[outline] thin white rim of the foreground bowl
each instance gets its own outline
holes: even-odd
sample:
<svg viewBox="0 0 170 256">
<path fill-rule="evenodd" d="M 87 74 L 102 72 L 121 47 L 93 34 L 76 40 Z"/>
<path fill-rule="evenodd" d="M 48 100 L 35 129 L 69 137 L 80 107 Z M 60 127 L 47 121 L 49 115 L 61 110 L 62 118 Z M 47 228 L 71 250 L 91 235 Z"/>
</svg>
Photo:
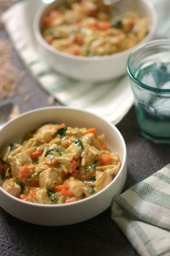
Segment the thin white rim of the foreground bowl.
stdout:
<svg viewBox="0 0 170 256">
<path fill-rule="evenodd" d="M 83 201 L 90 201 L 90 200 L 93 200 L 95 197 L 98 197 L 101 195 L 101 193 L 103 193 L 104 191 L 107 191 L 110 186 L 116 182 L 117 178 L 119 177 L 119 175 L 124 171 L 124 168 L 126 168 L 126 164 L 127 164 L 127 148 L 126 148 L 126 144 L 125 144 L 125 141 L 124 141 L 124 137 L 122 136 L 121 132 L 119 132 L 119 129 L 116 128 L 116 126 L 114 124 L 111 124 L 109 121 L 107 121 L 105 118 L 101 117 L 101 116 L 98 116 L 97 114 L 95 113 L 92 113 L 90 111 L 86 111 L 86 110 L 83 110 L 81 108 L 70 108 L 70 107 L 67 107 L 67 106 L 50 106 L 50 107 L 43 107 L 43 108 L 36 108 L 34 110 L 31 110 L 31 111 L 26 111 L 25 113 L 22 113 L 20 114 L 19 116 L 17 116 L 16 118 L 12 119 L 11 121 L 8 121 L 7 124 L 5 124 L 1 129 L 0 129 L 0 134 L 1 134 L 1 131 L 3 131 L 6 127 L 8 127 L 10 124 L 12 124 L 13 122 L 17 121 L 18 119 L 22 119 L 22 117 L 24 116 L 28 116 L 28 115 L 31 115 L 32 113 L 36 113 L 36 112 L 43 112 L 43 111 L 46 111 L 46 110 L 56 110 L 57 109 L 67 109 L 67 110 L 70 110 L 70 111 L 78 111 L 78 112 L 81 112 L 81 113 L 88 113 L 90 114 L 91 116 L 95 116 L 97 117 L 98 119 L 101 119 L 101 121 L 104 121 L 106 122 L 107 125 L 109 125 L 109 127 L 111 127 L 112 129 L 114 129 L 114 132 L 116 132 L 116 136 L 119 137 L 119 140 L 120 142 L 122 143 L 122 150 L 123 150 L 123 153 L 124 153 L 124 158 L 122 159 L 122 163 L 121 163 L 121 168 L 119 169 L 119 172 L 118 174 L 116 175 L 116 177 L 114 177 L 114 180 L 111 180 L 111 183 L 109 183 L 108 185 L 106 185 L 105 188 L 103 188 L 101 191 L 98 191 L 97 193 L 93 194 L 92 196 L 89 196 L 85 199 L 80 199 L 78 201 L 74 201 L 74 202 L 71 202 L 69 204 L 38 204 L 38 203 L 32 203 L 32 202 L 29 202 L 29 201 L 24 201 L 24 200 L 21 200 L 21 199 L 18 199 L 16 196 L 12 196 L 12 194 L 8 193 L 7 191 L 4 190 L 4 188 L 2 188 L 0 186 L 0 191 L 4 194 L 6 194 L 6 196 L 9 196 L 11 199 L 13 199 L 14 201 L 17 201 L 19 202 L 20 204 L 26 204 L 27 206 L 33 206 L 33 207 L 43 207 L 43 208 L 61 208 L 61 207 L 70 207 L 70 206 L 73 206 L 73 205 L 77 205 L 77 204 L 82 204 Z"/>
</svg>

